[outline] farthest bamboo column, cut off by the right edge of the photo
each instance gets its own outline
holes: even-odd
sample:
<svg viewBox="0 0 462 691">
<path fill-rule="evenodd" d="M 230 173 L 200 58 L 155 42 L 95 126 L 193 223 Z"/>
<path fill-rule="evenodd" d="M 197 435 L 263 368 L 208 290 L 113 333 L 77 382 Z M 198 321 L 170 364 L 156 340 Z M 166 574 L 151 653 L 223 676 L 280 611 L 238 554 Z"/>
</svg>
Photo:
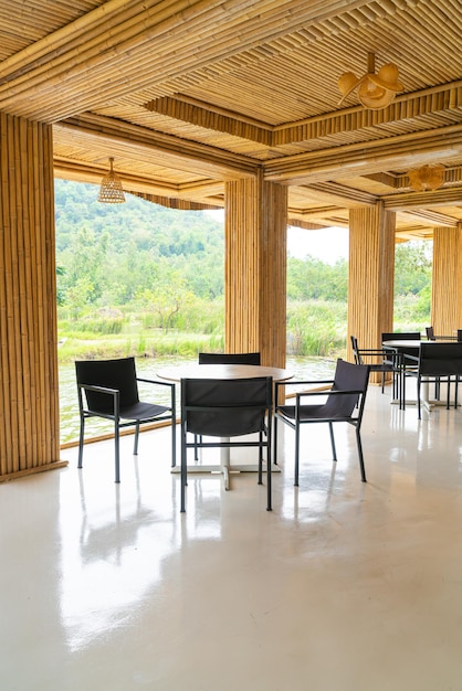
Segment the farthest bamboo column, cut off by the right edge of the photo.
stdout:
<svg viewBox="0 0 462 691">
<path fill-rule="evenodd" d="M 462 223 L 433 228 L 431 322 L 434 332 L 462 329 Z"/>
</svg>

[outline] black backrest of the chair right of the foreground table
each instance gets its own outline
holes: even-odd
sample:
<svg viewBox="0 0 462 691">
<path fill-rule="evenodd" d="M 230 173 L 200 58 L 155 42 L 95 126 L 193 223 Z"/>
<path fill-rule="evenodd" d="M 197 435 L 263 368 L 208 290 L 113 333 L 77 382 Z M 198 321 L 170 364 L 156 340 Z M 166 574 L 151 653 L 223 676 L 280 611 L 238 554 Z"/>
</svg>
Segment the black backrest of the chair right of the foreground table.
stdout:
<svg viewBox="0 0 462 691">
<path fill-rule="evenodd" d="M 345 394 L 344 396 L 333 395 L 327 397 L 326 413 L 350 417 L 353 411 L 358 405 L 359 397 L 366 397 L 369 383 L 369 366 L 367 364 L 353 364 L 346 360 L 337 360 L 332 391 L 360 391 L 360 393 Z M 361 406 L 363 407 L 363 406 Z"/>
</svg>

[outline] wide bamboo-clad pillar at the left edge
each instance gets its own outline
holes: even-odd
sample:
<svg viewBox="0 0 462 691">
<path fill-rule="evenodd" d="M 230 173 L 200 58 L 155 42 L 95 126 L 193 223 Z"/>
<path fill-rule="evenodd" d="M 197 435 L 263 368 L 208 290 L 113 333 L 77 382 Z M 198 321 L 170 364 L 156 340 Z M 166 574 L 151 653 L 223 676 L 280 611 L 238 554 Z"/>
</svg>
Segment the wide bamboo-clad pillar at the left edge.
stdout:
<svg viewBox="0 0 462 691">
<path fill-rule="evenodd" d="M 0 114 L 0 480 L 56 467 L 51 127 Z"/>
</svg>

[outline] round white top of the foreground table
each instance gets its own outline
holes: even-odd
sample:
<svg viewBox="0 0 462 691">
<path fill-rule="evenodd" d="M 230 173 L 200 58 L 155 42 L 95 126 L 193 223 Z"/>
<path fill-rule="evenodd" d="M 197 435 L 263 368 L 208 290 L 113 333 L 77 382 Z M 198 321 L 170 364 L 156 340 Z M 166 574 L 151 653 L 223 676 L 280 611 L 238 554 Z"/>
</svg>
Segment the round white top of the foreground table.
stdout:
<svg viewBox="0 0 462 691">
<path fill-rule="evenodd" d="M 179 382 L 182 379 L 246 379 L 272 376 L 274 382 L 292 379 L 293 373 L 281 368 L 259 364 L 179 364 L 157 372 L 160 379 Z"/>
</svg>

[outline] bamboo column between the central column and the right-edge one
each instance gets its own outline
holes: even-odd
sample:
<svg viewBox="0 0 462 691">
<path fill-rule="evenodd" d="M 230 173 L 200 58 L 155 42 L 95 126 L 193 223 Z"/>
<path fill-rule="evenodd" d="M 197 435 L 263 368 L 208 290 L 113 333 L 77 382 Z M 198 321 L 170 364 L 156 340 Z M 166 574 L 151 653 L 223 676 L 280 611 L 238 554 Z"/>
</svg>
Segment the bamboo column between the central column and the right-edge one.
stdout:
<svg viewBox="0 0 462 691">
<path fill-rule="evenodd" d="M 392 331 L 395 213 L 382 203 L 349 213 L 347 351 L 350 336 L 360 348 L 380 348 L 381 333 Z M 381 374 L 371 374 L 378 381 Z"/>
</svg>

